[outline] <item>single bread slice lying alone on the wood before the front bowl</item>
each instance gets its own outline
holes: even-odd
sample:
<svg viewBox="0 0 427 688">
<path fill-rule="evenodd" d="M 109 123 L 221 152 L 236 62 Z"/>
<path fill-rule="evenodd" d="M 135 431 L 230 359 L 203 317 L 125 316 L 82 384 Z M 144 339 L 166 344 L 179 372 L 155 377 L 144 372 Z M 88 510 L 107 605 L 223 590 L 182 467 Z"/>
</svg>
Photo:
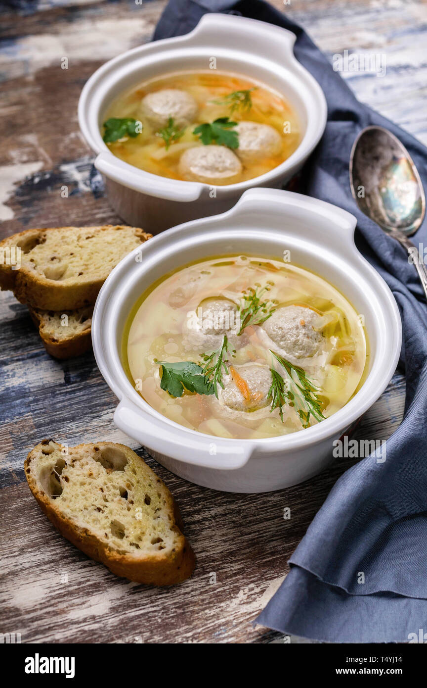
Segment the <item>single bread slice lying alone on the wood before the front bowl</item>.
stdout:
<svg viewBox="0 0 427 688">
<path fill-rule="evenodd" d="M 65 447 L 43 440 L 27 456 L 25 477 L 60 533 L 117 576 L 172 585 L 193 572 L 192 548 L 168 488 L 124 444 Z"/>
</svg>

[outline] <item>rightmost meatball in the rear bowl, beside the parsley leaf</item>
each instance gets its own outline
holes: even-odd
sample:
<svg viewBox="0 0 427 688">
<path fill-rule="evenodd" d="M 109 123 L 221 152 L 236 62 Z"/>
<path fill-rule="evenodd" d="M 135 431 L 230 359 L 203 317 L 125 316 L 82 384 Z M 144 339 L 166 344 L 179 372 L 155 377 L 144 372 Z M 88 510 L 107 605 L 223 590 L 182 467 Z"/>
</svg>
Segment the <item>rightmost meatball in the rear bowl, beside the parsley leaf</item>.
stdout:
<svg viewBox="0 0 427 688">
<path fill-rule="evenodd" d="M 271 155 L 279 155 L 281 138 L 276 129 L 257 122 L 239 122 L 235 131 L 239 136 L 239 147 L 235 151 L 242 162 L 249 164 Z"/>
</svg>

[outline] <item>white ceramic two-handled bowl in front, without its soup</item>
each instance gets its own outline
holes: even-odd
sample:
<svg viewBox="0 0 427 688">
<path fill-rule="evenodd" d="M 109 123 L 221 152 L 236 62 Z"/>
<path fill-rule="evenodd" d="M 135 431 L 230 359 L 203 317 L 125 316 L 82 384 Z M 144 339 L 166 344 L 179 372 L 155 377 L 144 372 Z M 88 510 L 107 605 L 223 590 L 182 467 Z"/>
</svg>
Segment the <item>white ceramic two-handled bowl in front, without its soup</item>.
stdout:
<svg viewBox="0 0 427 688">
<path fill-rule="evenodd" d="M 173 473 L 222 491 L 277 490 L 330 464 L 332 441 L 382 394 L 402 342 L 395 299 L 356 249 L 355 226 L 353 215 L 323 201 L 289 191 L 250 189 L 231 211 L 170 229 L 130 253 L 102 287 L 92 325 L 97 365 L 119 398 L 117 427 Z M 282 257 L 284 250 L 290 250 L 292 263 L 332 283 L 364 316 L 371 355 L 369 374 L 357 394 L 313 427 L 264 440 L 205 435 L 152 409 L 132 387 L 120 360 L 124 325 L 138 297 L 170 270 L 197 259 L 232 253 Z"/>
</svg>

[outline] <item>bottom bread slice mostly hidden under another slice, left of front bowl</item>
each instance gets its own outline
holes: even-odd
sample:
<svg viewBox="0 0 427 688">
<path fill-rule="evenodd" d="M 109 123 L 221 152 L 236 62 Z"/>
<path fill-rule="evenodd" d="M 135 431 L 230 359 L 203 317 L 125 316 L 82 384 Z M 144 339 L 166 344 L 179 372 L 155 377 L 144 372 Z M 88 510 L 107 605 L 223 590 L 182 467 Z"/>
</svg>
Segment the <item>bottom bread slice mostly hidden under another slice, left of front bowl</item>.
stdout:
<svg viewBox="0 0 427 688">
<path fill-rule="evenodd" d="M 28 307 L 45 349 L 55 358 L 74 358 L 92 346 L 93 305 L 64 313 Z"/>
</svg>

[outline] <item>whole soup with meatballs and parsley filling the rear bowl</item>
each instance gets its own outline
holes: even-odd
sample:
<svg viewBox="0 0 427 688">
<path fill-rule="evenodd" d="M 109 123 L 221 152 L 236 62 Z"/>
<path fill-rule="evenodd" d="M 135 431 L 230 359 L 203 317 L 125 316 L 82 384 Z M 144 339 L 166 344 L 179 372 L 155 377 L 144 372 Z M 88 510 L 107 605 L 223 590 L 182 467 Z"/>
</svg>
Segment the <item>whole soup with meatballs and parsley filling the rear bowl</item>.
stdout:
<svg viewBox="0 0 427 688">
<path fill-rule="evenodd" d="M 102 134 L 111 152 L 135 167 L 214 185 L 270 171 L 301 140 L 297 115 L 281 94 L 216 70 L 168 74 L 120 94 Z"/>
</svg>

